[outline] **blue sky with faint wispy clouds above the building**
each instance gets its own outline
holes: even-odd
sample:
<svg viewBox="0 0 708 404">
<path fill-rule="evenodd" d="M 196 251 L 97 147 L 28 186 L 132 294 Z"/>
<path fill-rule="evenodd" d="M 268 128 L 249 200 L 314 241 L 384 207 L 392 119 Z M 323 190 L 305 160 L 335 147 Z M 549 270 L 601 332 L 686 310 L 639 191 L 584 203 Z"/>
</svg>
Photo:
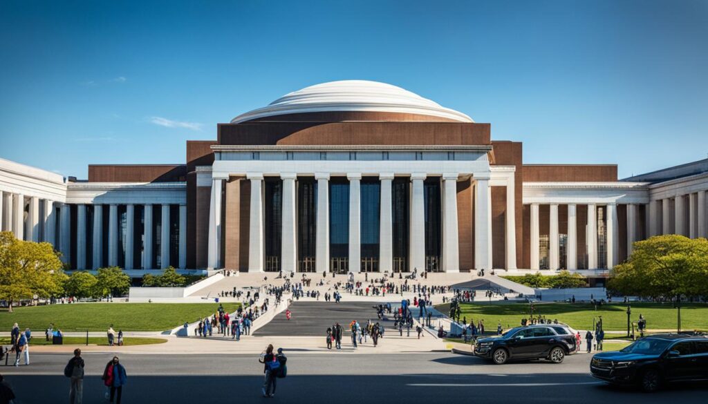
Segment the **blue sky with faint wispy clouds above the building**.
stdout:
<svg viewBox="0 0 708 404">
<path fill-rule="evenodd" d="M 183 163 L 217 122 L 342 79 L 626 177 L 708 156 L 708 1 L 3 0 L 0 157 Z"/>
</svg>

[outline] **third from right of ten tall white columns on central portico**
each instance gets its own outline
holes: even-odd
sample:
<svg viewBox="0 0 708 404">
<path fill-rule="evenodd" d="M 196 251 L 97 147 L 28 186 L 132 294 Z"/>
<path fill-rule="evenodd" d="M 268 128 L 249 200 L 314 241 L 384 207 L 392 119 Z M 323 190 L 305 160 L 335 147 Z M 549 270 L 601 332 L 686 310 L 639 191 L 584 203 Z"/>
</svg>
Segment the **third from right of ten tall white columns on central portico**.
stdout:
<svg viewBox="0 0 708 404">
<path fill-rule="evenodd" d="M 445 272 L 459 272 L 459 231 L 457 227 L 457 173 L 443 173 L 445 197 L 442 207 L 442 265 Z"/>
</svg>

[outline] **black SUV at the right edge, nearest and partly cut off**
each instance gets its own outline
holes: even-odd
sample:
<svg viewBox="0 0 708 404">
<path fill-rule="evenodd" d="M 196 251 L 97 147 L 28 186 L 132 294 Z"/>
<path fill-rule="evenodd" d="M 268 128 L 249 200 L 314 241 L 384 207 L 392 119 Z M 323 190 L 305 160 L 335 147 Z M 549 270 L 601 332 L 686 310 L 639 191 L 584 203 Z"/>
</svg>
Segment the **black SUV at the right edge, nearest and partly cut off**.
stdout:
<svg viewBox="0 0 708 404">
<path fill-rule="evenodd" d="M 658 334 L 621 351 L 601 352 L 590 361 L 593 377 L 614 384 L 637 384 L 656 391 L 662 383 L 708 379 L 708 338 Z"/>
</svg>

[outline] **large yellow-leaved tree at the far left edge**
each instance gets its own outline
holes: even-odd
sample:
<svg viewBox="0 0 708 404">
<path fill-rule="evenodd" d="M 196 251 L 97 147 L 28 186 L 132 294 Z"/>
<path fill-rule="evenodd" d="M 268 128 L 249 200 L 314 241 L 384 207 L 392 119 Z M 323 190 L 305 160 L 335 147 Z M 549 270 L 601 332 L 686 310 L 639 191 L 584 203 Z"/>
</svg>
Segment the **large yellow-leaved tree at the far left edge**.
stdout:
<svg viewBox="0 0 708 404">
<path fill-rule="evenodd" d="M 0 299 L 12 304 L 21 299 L 59 296 L 67 275 L 50 243 L 34 243 L 0 233 Z"/>
</svg>

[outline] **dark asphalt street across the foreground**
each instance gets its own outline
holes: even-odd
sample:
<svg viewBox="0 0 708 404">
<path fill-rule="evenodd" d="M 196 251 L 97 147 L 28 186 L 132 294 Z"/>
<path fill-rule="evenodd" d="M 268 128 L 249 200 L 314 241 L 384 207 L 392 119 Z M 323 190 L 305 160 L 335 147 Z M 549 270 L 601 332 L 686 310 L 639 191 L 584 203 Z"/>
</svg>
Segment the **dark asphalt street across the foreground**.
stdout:
<svg viewBox="0 0 708 404">
<path fill-rule="evenodd" d="M 522 362 L 496 366 L 444 352 L 328 354 L 285 352 L 288 376 L 278 379 L 273 403 L 700 403 L 705 383 L 656 394 L 606 386 L 588 376 L 590 355 L 563 364 Z M 33 354 L 29 367 L 0 367 L 16 404 L 53 403 L 68 395 L 62 369 L 70 355 Z M 84 403 L 105 403 L 101 374 L 110 354 L 84 354 Z M 259 403 L 263 365 L 255 355 L 122 354 L 128 374 L 123 403 Z"/>
</svg>

